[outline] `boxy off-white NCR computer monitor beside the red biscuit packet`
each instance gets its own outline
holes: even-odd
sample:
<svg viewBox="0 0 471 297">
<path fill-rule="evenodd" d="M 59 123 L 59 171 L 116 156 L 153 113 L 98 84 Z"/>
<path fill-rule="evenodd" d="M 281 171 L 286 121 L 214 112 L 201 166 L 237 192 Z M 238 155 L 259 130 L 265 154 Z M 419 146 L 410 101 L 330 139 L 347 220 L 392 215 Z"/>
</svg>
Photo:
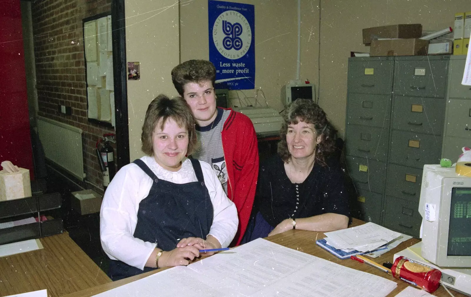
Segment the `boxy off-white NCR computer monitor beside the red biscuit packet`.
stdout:
<svg viewBox="0 0 471 297">
<path fill-rule="evenodd" d="M 471 267 L 471 177 L 424 165 L 419 213 L 422 257 L 440 267 Z"/>
</svg>

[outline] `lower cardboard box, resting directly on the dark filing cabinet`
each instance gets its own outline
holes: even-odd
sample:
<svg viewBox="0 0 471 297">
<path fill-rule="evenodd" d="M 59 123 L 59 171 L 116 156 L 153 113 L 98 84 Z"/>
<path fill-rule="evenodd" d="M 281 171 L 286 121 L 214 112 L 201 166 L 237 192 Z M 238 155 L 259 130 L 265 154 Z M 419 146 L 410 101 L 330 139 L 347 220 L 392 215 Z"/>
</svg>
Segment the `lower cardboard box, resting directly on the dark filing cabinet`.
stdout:
<svg viewBox="0 0 471 297">
<path fill-rule="evenodd" d="M 418 38 L 372 40 L 370 56 L 425 56 L 428 45 Z"/>
</svg>

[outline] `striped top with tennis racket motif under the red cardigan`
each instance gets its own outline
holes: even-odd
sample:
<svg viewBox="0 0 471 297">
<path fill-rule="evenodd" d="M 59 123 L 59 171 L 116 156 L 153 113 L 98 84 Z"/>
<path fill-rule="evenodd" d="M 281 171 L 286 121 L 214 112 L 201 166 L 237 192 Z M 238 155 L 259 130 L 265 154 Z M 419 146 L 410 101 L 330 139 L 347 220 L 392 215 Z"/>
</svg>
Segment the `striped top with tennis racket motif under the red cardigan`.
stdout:
<svg viewBox="0 0 471 297">
<path fill-rule="evenodd" d="M 219 182 L 227 195 L 227 168 L 224 160 L 224 150 L 222 148 L 221 132 L 224 128 L 230 110 L 218 108 L 216 119 L 209 125 L 199 127 L 196 125 L 196 137 L 198 148 L 191 154 L 191 158 L 204 161 L 211 165 L 211 169 L 216 173 Z"/>
</svg>

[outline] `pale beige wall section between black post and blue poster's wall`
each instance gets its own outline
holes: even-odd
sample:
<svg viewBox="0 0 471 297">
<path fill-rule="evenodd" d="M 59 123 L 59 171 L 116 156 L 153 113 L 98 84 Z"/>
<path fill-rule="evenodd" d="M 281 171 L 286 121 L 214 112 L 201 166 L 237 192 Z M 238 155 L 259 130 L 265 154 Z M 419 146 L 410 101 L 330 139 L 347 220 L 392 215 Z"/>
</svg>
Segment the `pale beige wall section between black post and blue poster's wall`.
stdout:
<svg viewBox="0 0 471 297">
<path fill-rule="evenodd" d="M 130 161 L 143 156 L 140 136 L 148 104 L 160 93 L 174 92 L 170 72 L 179 64 L 179 7 L 175 3 L 125 3 L 126 59 L 140 62 L 141 72 L 140 80 L 128 81 Z"/>
</svg>

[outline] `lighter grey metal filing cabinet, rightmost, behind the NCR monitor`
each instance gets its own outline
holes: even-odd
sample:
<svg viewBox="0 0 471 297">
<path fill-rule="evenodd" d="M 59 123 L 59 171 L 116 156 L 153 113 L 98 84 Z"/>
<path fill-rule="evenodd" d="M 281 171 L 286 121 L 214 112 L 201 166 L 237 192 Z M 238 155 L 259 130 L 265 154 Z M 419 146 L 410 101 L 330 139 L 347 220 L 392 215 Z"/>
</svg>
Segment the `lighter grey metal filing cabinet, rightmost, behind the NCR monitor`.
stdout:
<svg viewBox="0 0 471 297">
<path fill-rule="evenodd" d="M 461 84 L 466 56 L 451 56 L 442 158 L 458 160 L 463 146 L 471 147 L 471 86 Z"/>
</svg>

